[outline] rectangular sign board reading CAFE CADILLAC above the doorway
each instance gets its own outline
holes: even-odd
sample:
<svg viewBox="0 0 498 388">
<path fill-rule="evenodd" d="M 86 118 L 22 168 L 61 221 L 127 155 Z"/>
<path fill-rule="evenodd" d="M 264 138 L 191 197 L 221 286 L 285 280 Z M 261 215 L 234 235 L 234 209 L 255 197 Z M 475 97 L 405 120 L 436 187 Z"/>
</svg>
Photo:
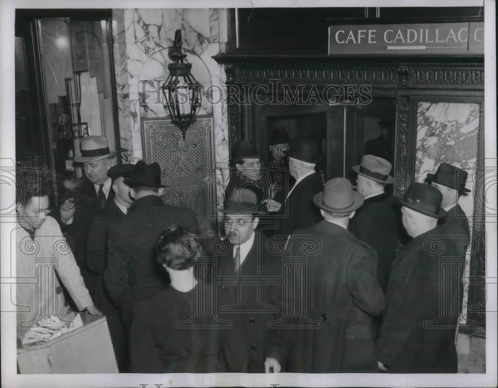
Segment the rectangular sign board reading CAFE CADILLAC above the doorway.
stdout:
<svg viewBox="0 0 498 388">
<path fill-rule="evenodd" d="M 484 54 L 484 22 L 329 26 L 329 55 Z"/>
</svg>

